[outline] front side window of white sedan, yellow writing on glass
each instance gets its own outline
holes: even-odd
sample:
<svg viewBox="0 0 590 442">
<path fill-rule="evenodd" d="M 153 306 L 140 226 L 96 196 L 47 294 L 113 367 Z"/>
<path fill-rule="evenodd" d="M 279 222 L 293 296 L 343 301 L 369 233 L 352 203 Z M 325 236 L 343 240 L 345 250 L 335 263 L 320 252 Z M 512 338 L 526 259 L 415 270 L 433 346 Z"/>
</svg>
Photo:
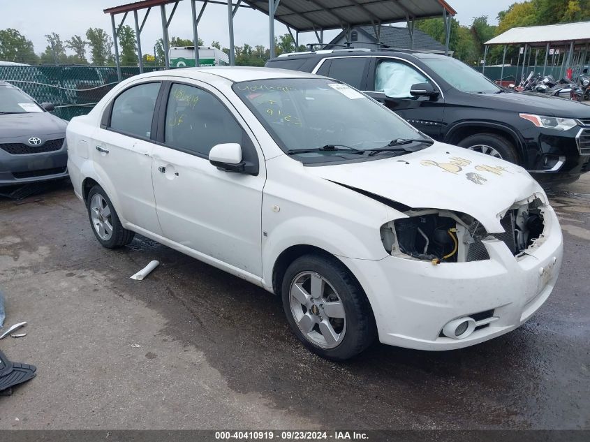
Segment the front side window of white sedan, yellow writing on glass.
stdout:
<svg viewBox="0 0 590 442">
<path fill-rule="evenodd" d="M 165 115 L 166 145 L 208 156 L 214 145 L 242 142 L 242 128 L 215 96 L 198 87 L 172 84 Z"/>
</svg>

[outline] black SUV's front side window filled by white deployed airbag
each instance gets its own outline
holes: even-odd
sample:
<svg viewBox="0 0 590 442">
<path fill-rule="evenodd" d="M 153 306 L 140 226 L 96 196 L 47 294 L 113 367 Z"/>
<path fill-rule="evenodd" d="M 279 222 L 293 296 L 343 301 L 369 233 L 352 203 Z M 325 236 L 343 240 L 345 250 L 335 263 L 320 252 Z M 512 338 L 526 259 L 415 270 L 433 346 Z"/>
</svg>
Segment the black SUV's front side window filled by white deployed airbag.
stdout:
<svg viewBox="0 0 590 442">
<path fill-rule="evenodd" d="M 392 98 L 416 98 L 410 95 L 412 84 L 429 83 L 422 73 L 401 61 L 379 62 L 375 74 L 375 91 Z"/>
</svg>

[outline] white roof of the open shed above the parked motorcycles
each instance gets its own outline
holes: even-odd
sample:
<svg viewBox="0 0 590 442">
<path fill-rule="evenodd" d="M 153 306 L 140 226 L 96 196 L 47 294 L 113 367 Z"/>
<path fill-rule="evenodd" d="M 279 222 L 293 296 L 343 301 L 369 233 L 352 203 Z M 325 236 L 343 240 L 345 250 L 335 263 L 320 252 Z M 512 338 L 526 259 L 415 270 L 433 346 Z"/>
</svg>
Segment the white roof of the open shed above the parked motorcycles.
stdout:
<svg viewBox="0 0 590 442">
<path fill-rule="evenodd" d="M 547 24 L 508 29 L 485 42 L 485 45 L 513 45 L 527 43 L 544 45 L 552 42 L 590 41 L 590 22 Z"/>
</svg>

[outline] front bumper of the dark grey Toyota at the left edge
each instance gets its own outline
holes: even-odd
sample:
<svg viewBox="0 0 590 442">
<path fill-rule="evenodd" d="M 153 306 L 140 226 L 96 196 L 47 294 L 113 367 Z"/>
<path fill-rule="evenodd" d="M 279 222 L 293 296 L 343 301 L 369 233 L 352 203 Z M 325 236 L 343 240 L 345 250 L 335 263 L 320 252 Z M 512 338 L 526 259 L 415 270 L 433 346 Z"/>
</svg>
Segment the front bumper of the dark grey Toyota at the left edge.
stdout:
<svg viewBox="0 0 590 442">
<path fill-rule="evenodd" d="M 65 138 L 65 135 L 57 135 L 45 142 L 61 138 Z M 31 154 L 9 154 L 0 146 L 0 186 L 14 186 L 67 177 L 67 163 L 68 150 L 65 141 L 61 148 L 52 152 Z"/>
</svg>

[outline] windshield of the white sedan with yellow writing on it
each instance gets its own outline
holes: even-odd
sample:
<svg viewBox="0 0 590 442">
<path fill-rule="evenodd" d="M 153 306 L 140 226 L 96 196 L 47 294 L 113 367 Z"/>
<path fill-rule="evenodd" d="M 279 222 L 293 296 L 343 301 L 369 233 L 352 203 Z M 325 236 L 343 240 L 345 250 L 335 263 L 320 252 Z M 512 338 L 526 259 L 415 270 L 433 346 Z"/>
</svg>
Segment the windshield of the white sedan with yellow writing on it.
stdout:
<svg viewBox="0 0 590 442">
<path fill-rule="evenodd" d="M 429 140 L 387 108 L 335 80 L 256 80 L 236 83 L 233 89 L 281 149 L 300 161 L 353 159 L 360 156 L 358 151 L 368 157 L 365 150 L 392 140 Z M 313 149 L 318 150 L 309 152 Z"/>
</svg>

